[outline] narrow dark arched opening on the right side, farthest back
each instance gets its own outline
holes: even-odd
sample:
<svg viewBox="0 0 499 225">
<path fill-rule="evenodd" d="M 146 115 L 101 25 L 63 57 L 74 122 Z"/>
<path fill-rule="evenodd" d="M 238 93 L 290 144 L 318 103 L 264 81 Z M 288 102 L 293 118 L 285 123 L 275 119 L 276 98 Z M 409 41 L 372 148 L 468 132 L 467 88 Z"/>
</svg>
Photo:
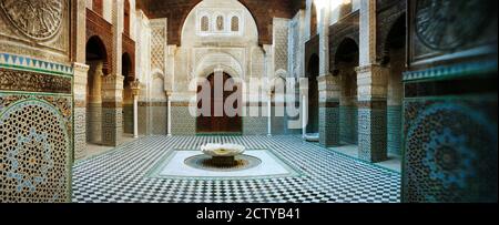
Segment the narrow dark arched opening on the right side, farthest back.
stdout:
<svg viewBox="0 0 499 225">
<path fill-rule="evenodd" d="M 307 133 L 318 133 L 318 114 L 319 114 L 319 93 L 317 78 L 319 73 L 319 58 L 317 54 L 313 54 L 308 60 L 308 123 Z"/>
</svg>

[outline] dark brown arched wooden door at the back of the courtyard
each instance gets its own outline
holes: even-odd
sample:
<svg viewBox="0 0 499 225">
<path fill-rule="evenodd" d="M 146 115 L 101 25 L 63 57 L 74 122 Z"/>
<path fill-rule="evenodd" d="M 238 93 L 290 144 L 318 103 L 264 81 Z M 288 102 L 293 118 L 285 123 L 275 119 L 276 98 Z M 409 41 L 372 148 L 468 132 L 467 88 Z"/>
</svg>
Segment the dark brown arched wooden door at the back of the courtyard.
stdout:
<svg viewBox="0 0 499 225">
<path fill-rule="evenodd" d="M 227 91 L 227 89 L 224 89 L 227 86 L 233 86 L 233 90 Z M 201 112 L 204 110 L 203 114 L 196 119 L 196 132 L 198 134 L 242 133 L 243 123 L 240 116 L 242 111 L 242 89 L 231 75 L 225 72 L 210 74 L 197 88 L 197 109 Z M 225 105 L 231 102 L 233 105 Z M 226 106 L 236 109 L 237 113 L 234 113 L 235 115 L 227 114 L 224 110 Z M 204 114 L 205 112 L 208 112 L 208 115 Z"/>
</svg>

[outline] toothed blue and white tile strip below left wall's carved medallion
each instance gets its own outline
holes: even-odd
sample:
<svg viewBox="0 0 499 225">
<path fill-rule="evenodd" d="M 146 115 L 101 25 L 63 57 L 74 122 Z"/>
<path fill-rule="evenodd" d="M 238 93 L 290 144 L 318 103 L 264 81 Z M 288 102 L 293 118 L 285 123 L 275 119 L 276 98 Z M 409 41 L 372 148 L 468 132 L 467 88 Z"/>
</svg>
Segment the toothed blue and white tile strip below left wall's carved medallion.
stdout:
<svg viewBox="0 0 499 225">
<path fill-rule="evenodd" d="M 73 67 L 9 53 L 0 53 L 0 68 L 73 76 Z"/>
</svg>

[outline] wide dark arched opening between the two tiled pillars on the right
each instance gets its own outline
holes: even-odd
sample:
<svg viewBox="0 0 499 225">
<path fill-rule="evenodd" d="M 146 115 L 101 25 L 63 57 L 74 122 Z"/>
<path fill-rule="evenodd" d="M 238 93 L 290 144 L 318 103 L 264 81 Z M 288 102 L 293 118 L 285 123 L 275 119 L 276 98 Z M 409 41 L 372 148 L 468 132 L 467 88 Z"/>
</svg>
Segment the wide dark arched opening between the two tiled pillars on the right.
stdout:
<svg viewBox="0 0 499 225">
<path fill-rule="evenodd" d="M 343 144 L 358 144 L 357 43 L 349 38 L 340 42 L 335 54 L 335 75 L 339 75 L 339 136 Z"/>
</svg>

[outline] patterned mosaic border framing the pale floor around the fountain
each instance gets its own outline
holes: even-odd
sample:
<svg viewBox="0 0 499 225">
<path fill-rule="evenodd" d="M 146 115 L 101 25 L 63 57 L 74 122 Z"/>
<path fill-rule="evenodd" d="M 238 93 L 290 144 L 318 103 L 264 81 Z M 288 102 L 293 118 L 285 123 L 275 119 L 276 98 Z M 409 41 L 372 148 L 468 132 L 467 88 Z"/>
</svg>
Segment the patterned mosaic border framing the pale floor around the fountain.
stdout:
<svg viewBox="0 0 499 225">
<path fill-rule="evenodd" d="M 261 175 L 261 176 L 174 176 L 174 175 L 161 175 L 161 171 L 163 167 L 167 165 L 167 163 L 175 156 L 177 152 L 185 151 L 195 151 L 195 150 L 182 150 L 182 149 L 173 149 L 169 151 L 165 155 L 161 157 L 161 160 L 146 172 L 145 177 L 150 178 L 167 178 L 167 180 L 180 180 L 180 181 L 231 181 L 231 180 L 272 180 L 272 178 L 282 178 L 282 177 L 301 177 L 305 176 L 296 166 L 291 165 L 286 160 L 275 154 L 269 149 L 261 149 L 261 150 L 249 150 L 249 151 L 266 151 L 267 154 L 273 157 L 279 165 L 286 168 L 289 174 L 283 175 Z"/>
</svg>

